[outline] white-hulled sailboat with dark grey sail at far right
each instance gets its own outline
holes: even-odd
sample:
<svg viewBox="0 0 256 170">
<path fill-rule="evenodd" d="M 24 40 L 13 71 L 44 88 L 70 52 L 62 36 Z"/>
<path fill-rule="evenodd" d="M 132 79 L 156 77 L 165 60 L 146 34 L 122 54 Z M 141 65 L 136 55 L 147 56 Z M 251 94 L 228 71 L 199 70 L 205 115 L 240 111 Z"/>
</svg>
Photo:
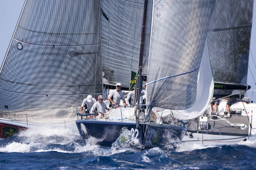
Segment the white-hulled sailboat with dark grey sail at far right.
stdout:
<svg viewBox="0 0 256 170">
<path fill-rule="evenodd" d="M 252 95 L 247 94 L 250 88 L 247 72 L 252 18 L 253 0 L 216 1 L 207 42 L 214 78 L 213 97 L 220 99 L 219 105 L 216 114 L 211 114 L 208 109 L 191 119 L 189 129 L 192 132 L 182 141 L 225 145 L 256 139 L 253 118 L 256 116 L 256 104 Z M 230 118 L 224 117 L 227 114 L 227 97 L 237 99 L 230 106 Z"/>
</svg>

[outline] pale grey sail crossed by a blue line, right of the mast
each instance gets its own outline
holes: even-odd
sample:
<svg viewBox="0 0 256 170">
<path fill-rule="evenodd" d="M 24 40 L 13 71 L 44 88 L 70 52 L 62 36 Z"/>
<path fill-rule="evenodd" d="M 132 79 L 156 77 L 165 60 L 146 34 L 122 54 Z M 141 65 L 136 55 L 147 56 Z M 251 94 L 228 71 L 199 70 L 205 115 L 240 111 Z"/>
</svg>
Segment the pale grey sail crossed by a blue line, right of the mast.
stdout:
<svg viewBox="0 0 256 170">
<path fill-rule="evenodd" d="M 197 75 L 214 0 L 155 0 L 147 104 L 187 109 L 196 100 Z"/>
</svg>

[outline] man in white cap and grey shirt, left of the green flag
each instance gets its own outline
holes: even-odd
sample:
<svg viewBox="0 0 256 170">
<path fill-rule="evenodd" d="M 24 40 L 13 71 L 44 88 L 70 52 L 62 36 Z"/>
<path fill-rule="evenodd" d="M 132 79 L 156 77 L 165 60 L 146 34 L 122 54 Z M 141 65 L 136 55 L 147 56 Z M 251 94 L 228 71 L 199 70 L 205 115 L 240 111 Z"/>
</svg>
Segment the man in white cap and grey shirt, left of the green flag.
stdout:
<svg viewBox="0 0 256 170">
<path fill-rule="evenodd" d="M 124 106 L 126 106 L 125 95 L 121 90 L 121 83 L 116 83 L 116 89 L 112 90 L 107 96 L 107 100 L 112 103 L 112 108 L 120 104 L 120 100 L 123 100 Z"/>
</svg>

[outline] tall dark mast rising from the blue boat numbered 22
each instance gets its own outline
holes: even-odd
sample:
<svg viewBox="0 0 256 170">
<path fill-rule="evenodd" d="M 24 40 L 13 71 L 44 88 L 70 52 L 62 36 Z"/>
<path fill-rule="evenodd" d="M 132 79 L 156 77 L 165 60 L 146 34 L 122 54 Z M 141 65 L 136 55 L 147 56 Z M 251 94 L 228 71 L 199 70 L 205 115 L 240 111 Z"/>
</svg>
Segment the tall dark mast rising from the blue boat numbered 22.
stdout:
<svg viewBox="0 0 256 170">
<path fill-rule="evenodd" d="M 138 126 L 138 115 L 140 111 L 140 93 L 142 90 L 142 62 L 143 62 L 143 52 L 144 52 L 144 41 L 145 41 L 145 29 L 146 29 L 146 18 L 147 18 L 147 0 L 144 0 L 144 13 L 142 21 L 142 31 L 140 40 L 140 56 L 138 65 L 138 83 L 137 83 L 137 105 L 136 105 L 136 122 Z"/>
</svg>

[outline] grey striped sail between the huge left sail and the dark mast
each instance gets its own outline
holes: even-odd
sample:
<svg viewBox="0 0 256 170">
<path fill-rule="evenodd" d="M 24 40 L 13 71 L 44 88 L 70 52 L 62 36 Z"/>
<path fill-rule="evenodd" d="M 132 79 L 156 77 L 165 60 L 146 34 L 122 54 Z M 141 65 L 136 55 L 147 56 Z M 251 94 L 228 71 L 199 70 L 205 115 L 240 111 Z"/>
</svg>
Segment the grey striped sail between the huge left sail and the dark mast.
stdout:
<svg viewBox="0 0 256 170">
<path fill-rule="evenodd" d="M 101 47 L 104 80 L 110 85 L 130 86 L 137 72 L 144 0 L 101 1 Z"/>
</svg>

